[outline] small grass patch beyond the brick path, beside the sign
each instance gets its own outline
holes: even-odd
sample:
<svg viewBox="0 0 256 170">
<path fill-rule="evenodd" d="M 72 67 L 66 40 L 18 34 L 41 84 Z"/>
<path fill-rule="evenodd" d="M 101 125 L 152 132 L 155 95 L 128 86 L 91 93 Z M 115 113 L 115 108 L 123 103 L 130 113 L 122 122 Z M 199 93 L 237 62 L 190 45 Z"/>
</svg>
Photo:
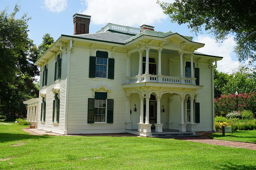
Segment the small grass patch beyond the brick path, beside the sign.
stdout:
<svg viewBox="0 0 256 170">
<path fill-rule="evenodd" d="M 220 140 L 229 140 L 236 142 L 248 142 L 256 144 L 256 130 L 252 131 L 233 131 L 232 133 L 226 133 L 225 136 L 222 136 L 222 133 L 214 133 L 209 135 L 213 139 Z"/>
</svg>

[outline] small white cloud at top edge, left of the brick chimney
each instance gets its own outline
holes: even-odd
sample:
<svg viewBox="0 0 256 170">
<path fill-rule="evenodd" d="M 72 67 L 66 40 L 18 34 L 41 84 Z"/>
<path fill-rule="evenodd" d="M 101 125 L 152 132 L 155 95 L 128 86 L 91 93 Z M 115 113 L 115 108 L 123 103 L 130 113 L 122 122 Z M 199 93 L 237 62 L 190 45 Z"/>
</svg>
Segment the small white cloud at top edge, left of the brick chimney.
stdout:
<svg viewBox="0 0 256 170">
<path fill-rule="evenodd" d="M 44 9 L 51 12 L 61 12 L 67 8 L 67 0 L 44 0 Z"/>
</svg>

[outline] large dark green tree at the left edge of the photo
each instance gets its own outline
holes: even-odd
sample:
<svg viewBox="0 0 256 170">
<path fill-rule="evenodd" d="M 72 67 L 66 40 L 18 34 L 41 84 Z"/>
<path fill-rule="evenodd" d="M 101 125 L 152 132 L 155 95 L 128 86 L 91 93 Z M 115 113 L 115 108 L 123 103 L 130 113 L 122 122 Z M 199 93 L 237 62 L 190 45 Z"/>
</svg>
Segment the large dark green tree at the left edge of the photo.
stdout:
<svg viewBox="0 0 256 170">
<path fill-rule="evenodd" d="M 33 78 L 39 75 L 33 64 L 38 50 L 28 38 L 30 18 L 26 14 L 15 18 L 20 11 L 17 4 L 10 15 L 7 10 L 0 12 L 0 115 L 14 119 L 26 115 L 23 101 L 38 95 L 38 84 Z"/>
</svg>

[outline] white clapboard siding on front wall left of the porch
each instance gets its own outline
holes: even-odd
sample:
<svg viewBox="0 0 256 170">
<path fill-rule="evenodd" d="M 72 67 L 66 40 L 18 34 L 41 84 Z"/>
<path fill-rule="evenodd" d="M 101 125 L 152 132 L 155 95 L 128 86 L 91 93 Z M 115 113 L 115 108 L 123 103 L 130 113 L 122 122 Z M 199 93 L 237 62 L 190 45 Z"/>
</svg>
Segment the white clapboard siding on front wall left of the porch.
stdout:
<svg viewBox="0 0 256 170">
<path fill-rule="evenodd" d="M 75 48 L 70 56 L 68 89 L 68 133 L 81 130 L 125 129 L 126 95 L 122 84 L 126 83 L 126 53 L 115 53 L 115 79 L 89 78 L 90 50 Z M 110 90 L 109 98 L 114 99 L 113 124 L 88 124 L 88 98 L 92 98 L 92 88 L 106 87 Z M 84 131 L 86 133 L 86 131 Z"/>
</svg>

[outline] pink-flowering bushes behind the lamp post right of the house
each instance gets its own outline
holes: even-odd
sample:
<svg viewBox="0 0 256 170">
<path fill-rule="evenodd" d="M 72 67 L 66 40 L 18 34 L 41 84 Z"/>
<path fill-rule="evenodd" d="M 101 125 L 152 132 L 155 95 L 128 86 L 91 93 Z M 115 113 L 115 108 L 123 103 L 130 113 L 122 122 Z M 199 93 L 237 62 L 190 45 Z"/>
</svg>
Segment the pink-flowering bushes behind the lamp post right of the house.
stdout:
<svg viewBox="0 0 256 170">
<path fill-rule="evenodd" d="M 256 112 L 256 92 L 241 93 L 237 96 L 238 111 L 250 110 Z M 236 95 L 222 95 L 220 98 L 214 99 L 214 107 L 216 114 L 227 114 L 236 110 Z"/>
</svg>

